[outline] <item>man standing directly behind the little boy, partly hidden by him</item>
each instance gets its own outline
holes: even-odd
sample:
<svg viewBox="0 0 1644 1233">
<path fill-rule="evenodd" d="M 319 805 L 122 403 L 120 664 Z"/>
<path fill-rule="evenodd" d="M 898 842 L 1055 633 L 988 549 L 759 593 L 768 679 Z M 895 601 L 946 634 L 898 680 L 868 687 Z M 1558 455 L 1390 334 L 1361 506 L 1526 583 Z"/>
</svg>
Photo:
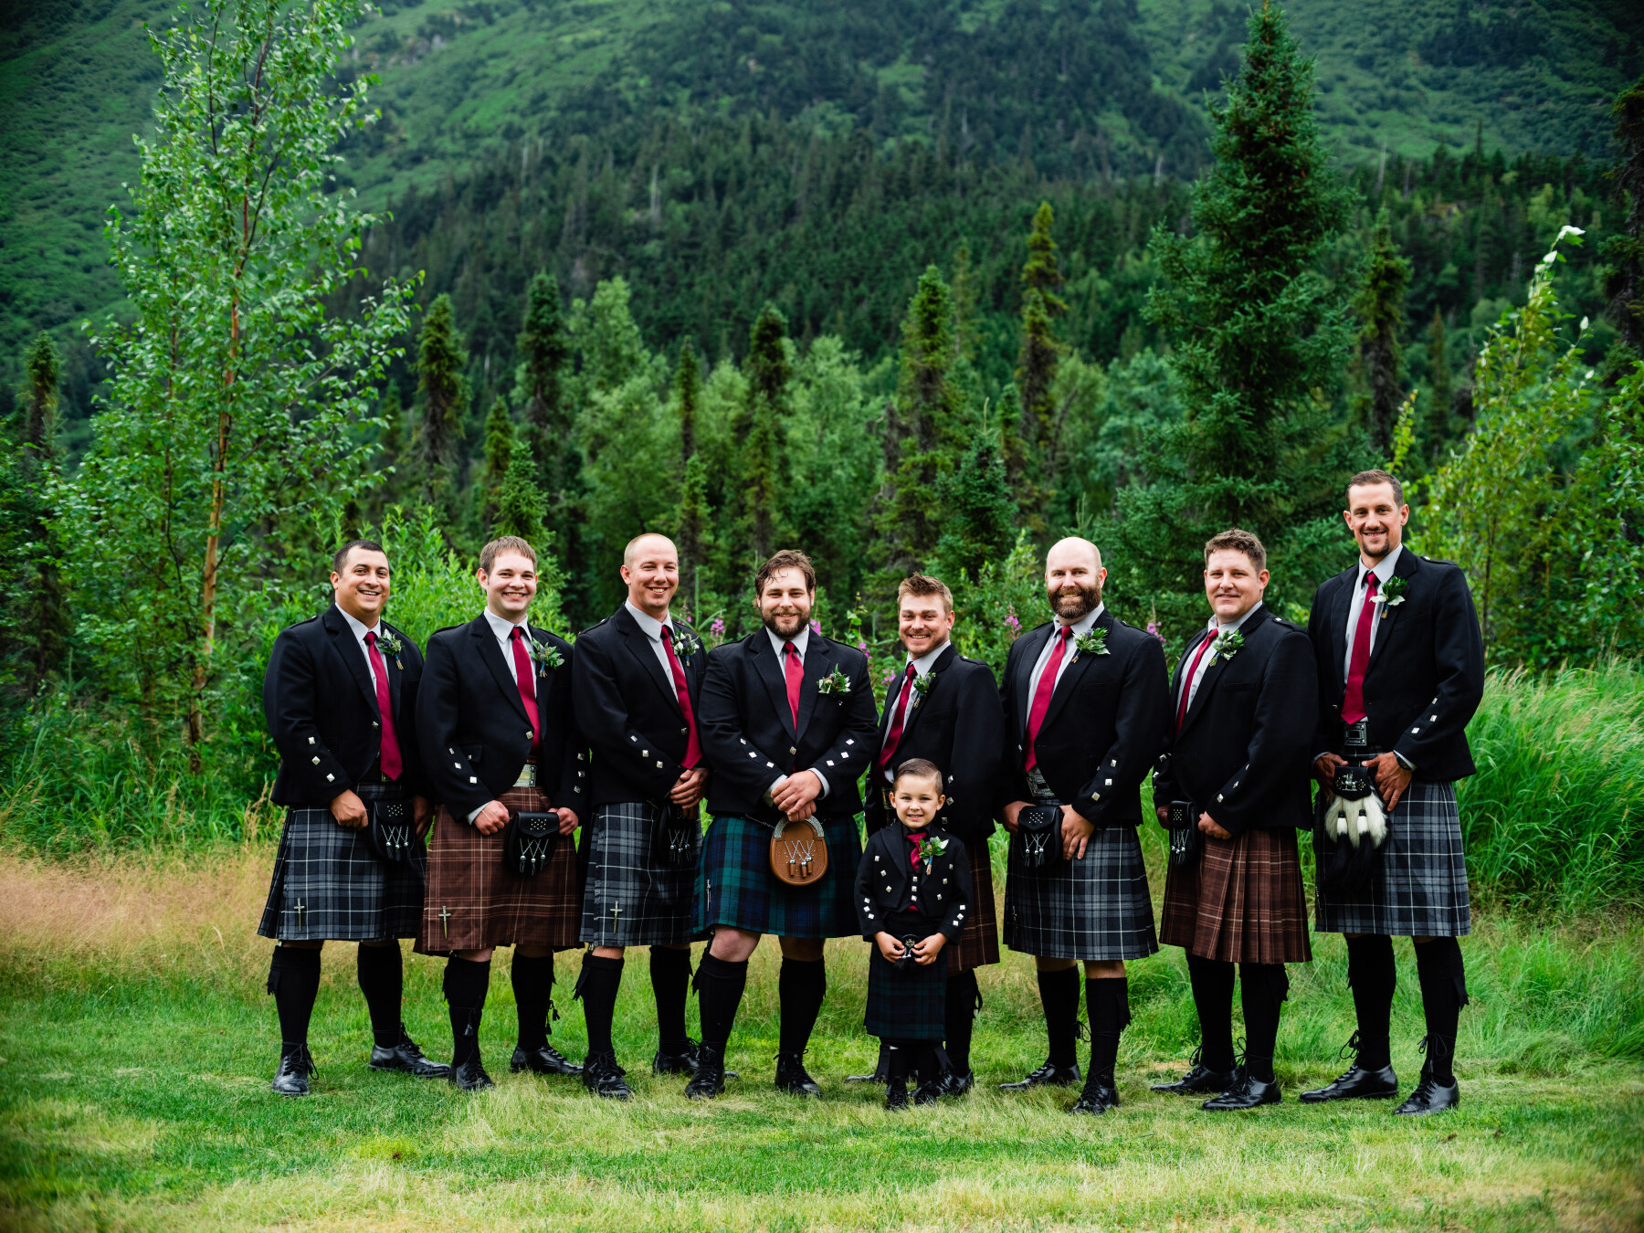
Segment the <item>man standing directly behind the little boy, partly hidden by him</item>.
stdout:
<svg viewBox="0 0 1644 1233">
<path fill-rule="evenodd" d="M 871 835 L 894 825 L 891 787 L 896 768 L 909 758 L 926 758 L 944 768 L 947 804 L 942 829 L 965 843 L 975 893 L 973 911 L 954 945 L 947 947 L 945 1042 L 949 1069 L 945 1093 L 975 1087 L 970 1069 L 970 1034 L 981 1003 L 977 968 L 1000 962 L 1000 927 L 993 904 L 993 794 L 1004 751 L 1004 710 L 993 671 L 967 659 L 949 641 L 954 631 L 954 593 L 940 579 L 911 574 L 896 589 L 896 635 L 907 651 L 903 674 L 884 694 L 880 715 L 878 756 L 868 774 L 866 822 Z M 880 1067 L 857 1080 L 888 1080 L 886 1049 Z M 883 1075 L 883 1078 L 881 1078 Z"/>
</svg>

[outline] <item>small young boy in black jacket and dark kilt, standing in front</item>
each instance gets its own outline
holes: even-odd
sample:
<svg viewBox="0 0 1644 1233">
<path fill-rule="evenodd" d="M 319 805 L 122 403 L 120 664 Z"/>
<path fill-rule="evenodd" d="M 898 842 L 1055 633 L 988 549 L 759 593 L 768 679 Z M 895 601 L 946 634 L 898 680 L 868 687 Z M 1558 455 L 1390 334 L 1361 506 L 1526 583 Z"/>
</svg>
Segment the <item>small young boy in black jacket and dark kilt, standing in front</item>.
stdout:
<svg viewBox="0 0 1644 1233">
<path fill-rule="evenodd" d="M 970 860 L 942 825 L 942 771 L 926 758 L 898 764 L 891 789 L 896 825 L 868 837 L 857 866 L 857 919 L 868 955 L 868 1036 L 886 1049 L 884 1108 L 907 1108 L 909 1064 L 916 1105 L 942 1095 L 937 1046 L 947 1031 L 947 958 L 972 914 Z"/>
</svg>

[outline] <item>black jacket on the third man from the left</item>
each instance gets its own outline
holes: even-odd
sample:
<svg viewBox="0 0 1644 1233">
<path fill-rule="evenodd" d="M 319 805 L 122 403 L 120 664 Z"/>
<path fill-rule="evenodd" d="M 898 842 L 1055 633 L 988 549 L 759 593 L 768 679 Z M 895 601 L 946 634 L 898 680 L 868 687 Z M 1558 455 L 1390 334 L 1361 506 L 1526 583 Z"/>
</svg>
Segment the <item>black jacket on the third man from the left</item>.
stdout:
<svg viewBox="0 0 1644 1233">
<path fill-rule="evenodd" d="M 700 713 L 707 648 L 684 621 L 676 620 L 674 630 L 695 646 L 679 667 L 690 709 Z M 626 605 L 577 635 L 570 681 L 577 728 L 593 760 L 589 804 L 666 802 L 684 769 L 690 733 L 674 682 L 664 676 L 651 640 Z M 702 740 L 700 718 L 697 740 Z"/>
</svg>

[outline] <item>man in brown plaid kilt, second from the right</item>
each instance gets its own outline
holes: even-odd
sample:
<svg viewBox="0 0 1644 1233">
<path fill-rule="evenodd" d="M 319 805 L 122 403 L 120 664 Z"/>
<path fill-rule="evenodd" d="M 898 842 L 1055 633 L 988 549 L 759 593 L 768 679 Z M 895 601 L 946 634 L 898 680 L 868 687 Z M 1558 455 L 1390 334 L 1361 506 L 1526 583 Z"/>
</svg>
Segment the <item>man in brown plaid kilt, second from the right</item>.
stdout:
<svg viewBox="0 0 1644 1233">
<path fill-rule="evenodd" d="M 1175 667 L 1175 737 L 1152 778 L 1159 820 L 1177 804 L 1159 940 L 1187 952 L 1200 1047 L 1185 1078 L 1154 1092 L 1212 1097 L 1203 1108 L 1277 1105 L 1272 1051 L 1286 963 L 1312 962 L 1295 832 L 1312 827 L 1309 766 L 1318 681 L 1307 635 L 1261 597 L 1268 551 L 1249 531 L 1205 544 L 1210 621 Z M 1182 807 L 1185 806 L 1185 809 Z M 1233 1059 L 1233 965 L 1245 1060 Z M 1220 1093 L 1220 1095 L 1218 1095 Z"/>
</svg>

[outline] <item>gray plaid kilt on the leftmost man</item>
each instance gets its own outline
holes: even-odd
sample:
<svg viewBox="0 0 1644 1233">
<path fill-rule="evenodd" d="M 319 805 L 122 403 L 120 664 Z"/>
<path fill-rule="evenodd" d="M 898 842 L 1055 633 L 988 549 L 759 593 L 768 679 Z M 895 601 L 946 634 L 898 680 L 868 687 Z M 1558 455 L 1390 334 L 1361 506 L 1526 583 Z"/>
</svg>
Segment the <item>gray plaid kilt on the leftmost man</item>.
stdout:
<svg viewBox="0 0 1644 1233">
<path fill-rule="evenodd" d="M 355 784 L 353 791 L 367 806 L 403 797 L 398 784 Z M 256 932 L 281 942 L 416 937 L 426 866 L 421 842 L 408 860 L 383 860 L 363 830 L 339 827 L 330 809 L 288 809 Z"/>
</svg>

